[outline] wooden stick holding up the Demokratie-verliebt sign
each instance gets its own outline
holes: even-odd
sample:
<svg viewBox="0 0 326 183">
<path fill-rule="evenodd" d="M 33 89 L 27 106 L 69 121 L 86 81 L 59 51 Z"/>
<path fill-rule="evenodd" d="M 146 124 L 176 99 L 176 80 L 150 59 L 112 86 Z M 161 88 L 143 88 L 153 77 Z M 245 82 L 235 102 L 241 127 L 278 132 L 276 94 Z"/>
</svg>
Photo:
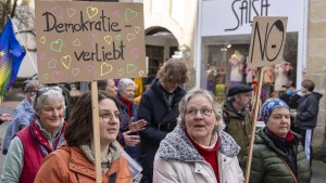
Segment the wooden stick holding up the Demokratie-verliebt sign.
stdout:
<svg viewBox="0 0 326 183">
<path fill-rule="evenodd" d="M 98 83 L 91 81 L 91 108 L 92 108 L 92 136 L 95 143 L 96 181 L 102 183 L 101 151 L 100 151 L 100 126 L 99 126 L 99 102 Z"/>
</svg>

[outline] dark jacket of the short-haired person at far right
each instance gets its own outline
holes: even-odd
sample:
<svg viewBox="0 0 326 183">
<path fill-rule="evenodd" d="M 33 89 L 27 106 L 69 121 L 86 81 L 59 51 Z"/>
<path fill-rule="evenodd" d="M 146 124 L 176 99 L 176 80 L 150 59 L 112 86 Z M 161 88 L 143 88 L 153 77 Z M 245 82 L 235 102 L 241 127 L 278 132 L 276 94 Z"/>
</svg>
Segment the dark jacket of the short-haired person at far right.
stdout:
<svg viewBox="0 0 326 183">
<path fill-rule="evenodd" d="M 317 125 L 321 93 L 312 92 L 298 101 L 299 106 L 294 119 L 296 128 L 313 129 Z"/>
</svg>

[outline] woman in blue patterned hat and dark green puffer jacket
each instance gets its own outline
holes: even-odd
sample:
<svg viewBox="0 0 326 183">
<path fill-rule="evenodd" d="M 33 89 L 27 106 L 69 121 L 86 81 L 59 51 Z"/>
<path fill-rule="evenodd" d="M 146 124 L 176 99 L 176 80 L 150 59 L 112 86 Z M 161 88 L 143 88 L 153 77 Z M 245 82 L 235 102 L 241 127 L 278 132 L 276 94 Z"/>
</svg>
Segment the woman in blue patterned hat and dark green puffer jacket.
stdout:
<svg viewBox="0 0 326 183">
<path fill-rule="evenodd" d="M 254 138 L 250 183 L 310 183 L 311 171 L 301 136 L 290 131 L 290 108 L 279 99 L 268 99 L 262 107 L 265 128 Z M 240 161 L 246 169 L 248 152 Z"/>
</svg>

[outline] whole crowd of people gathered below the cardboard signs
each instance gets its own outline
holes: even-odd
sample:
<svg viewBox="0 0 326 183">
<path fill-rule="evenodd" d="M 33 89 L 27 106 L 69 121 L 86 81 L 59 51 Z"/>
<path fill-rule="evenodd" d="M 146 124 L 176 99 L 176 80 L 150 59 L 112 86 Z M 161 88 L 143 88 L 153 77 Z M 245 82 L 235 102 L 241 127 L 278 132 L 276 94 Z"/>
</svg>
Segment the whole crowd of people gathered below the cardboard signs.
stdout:
<svg viewBox="0 0 326 183">
<path fill-rule="evenodd" d="M 246 171 L 252 183 L 311 181 L 322 97 L 312 80 L 302 81 L 302 96 L 288 86 L 280 99 L 266 100 L 260 115 L 265 127 L 255 134 L 249 109 L 253 88 L 229 88 L 221 105 L 205 89 L 186 91 L 188 80 L 186 64 L 172 58 L 146 79 L 139 97 L 133 79 L 98 81 L 100 149 L 95 149 L 91 92 L 72 107 L 62 88 L 27 83 L 13 115 L 0 115 L 1 123 L 10 121 L 0 182 L 95 182 L 96 151 L 102 181 L 110 183 L 133 182 L 124 152 L 142 167 L 140 183 L 242 183 Z"/>
</svg>

